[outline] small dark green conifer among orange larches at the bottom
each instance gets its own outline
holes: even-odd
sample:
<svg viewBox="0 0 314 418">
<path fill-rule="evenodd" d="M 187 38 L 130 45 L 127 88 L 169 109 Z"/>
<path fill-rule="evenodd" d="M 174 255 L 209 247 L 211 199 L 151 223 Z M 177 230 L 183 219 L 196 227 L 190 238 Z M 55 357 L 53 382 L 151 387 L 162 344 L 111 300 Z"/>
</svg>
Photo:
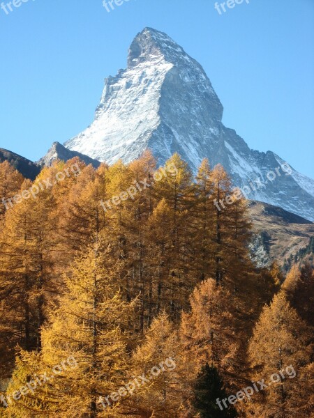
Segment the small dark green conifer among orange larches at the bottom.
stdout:
<svg viewBox="0 0 314 418">
<path fill-rule="evenodd" d="M 228 408 L 225 408 L 223 404 L 221 407 L 218 406 L 217 399 L 221 402 L 227 398 L 227 394 L 223 387 L 223 380 L 215 366 L 209 366 L 208 363 L 202 366 L 193 392 L 192 406 L 200 418 L 235 418 L 238 416 L 232 405 Z"/>
</svg>

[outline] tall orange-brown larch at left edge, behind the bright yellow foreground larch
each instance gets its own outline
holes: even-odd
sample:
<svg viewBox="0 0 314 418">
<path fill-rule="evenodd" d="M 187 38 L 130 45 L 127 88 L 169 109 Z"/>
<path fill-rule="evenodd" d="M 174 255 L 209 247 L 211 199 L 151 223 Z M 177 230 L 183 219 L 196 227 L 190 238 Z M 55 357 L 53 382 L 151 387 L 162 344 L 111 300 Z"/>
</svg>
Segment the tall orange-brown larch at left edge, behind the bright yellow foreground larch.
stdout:
<svg viewBox="0 0 314 418">
<path fill-rule="evenodd" d="M 36 182 L 31 185 L 26 180 L 21 194 L 30 187 L 33 192 L 39 192 Z M 41 190 L 40 196 L 30 192 L 25 196 L 27 199 L 21 198 L 7 211 L 1 233 L 0 300 L 12 313 L 15 323 L 11 328 L 15 337 L 8 346 L 9 352 L 17 342 L 26 350 L 40 350 L 40 327 L 47 317 L 48 305 L 57 297 L 53 274 L 55 202 L 47 189 Z"/>
</svg>

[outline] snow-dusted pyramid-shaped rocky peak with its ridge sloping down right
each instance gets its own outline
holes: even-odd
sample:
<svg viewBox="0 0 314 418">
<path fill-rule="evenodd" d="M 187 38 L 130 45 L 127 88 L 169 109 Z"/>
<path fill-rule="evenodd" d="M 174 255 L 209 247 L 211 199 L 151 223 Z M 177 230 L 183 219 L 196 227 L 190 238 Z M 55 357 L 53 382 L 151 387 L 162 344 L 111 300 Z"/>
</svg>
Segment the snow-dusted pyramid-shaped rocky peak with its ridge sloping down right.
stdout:
<svg viewBox="0 0 314 418">
<path fill-rule="evenodd" d="M 163 164 L 178 152 L 194 172 L 207 157 L 212 167 L 223 164 L 248 199 L 314 220 L 314 180 L 287 164 L 284 171 L 271 151 L 251 150 L 222 117 L 202 66 L 165 33 L 146 28 L 130 45 L 127 68 L 105 80 L 93 123 L 64 145 L 108 164 L 130 162 L 147 148 Z"/>
</svg>

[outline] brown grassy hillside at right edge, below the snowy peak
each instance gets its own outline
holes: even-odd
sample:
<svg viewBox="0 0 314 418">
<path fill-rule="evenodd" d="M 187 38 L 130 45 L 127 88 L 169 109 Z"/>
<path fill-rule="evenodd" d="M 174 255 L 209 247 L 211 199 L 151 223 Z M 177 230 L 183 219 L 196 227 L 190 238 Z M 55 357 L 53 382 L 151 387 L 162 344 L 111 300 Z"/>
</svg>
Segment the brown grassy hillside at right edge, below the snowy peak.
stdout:
<svg viewBox="0 0 314 418">
<path fill-rule="evenodd" d="M 249 212 L 253 219 L 253 237 L 250 250 L 257 267 L 266 267 L 278 261 L 289 270 L 291 261 L 302 256 L 313 256 L 314 224 L 299 215 L 251 201 Z"/>
</svg>

